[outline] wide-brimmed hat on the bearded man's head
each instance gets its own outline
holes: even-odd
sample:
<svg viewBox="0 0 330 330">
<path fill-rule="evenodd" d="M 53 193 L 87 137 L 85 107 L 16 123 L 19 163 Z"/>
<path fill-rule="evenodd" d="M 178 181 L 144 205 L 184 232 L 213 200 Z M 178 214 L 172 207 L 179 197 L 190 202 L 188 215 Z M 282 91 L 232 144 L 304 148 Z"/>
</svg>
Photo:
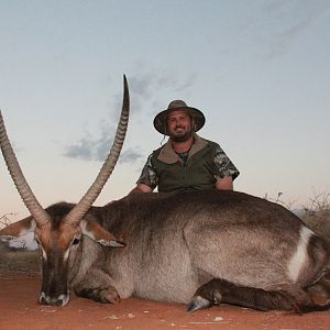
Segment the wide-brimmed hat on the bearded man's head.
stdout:
<svg viewBox="0 0 330 330">
<path fill-rule="evenodd" d="M 205 116 L 202 112 L 196 108 L 188 107 L 183 100 L 174 100 L 172 101 L 166 110 L 161 111 L 154 119 L 155 129 L 164 135 L 168 135 L 167 133 L 167 116 L 169 112 L 175 110 L 186 110 L 195 121 L 194 131 L 199 131 L 205 124 Z"/>
</svg>

